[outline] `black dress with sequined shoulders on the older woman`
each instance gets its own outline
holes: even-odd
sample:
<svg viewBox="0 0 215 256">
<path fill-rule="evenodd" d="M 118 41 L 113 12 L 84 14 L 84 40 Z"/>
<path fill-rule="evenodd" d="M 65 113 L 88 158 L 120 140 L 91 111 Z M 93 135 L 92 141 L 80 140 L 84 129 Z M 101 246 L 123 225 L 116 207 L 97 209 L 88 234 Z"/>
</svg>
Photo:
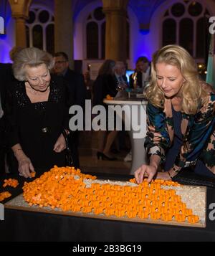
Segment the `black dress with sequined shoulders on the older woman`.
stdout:
<svg viewBox="0 0 215 256">
<path fill-rule="evenodd" d="M 10 146 L 20 143 L 36 170 L 65 166 L 65 151 L 53 151 L 69 123 L 62 79 L 52 78 L 49 98 L 41 103 L 31 103 L 24 82 L 16 82 L 10 87 L 7 105 Z"/>
</svg>

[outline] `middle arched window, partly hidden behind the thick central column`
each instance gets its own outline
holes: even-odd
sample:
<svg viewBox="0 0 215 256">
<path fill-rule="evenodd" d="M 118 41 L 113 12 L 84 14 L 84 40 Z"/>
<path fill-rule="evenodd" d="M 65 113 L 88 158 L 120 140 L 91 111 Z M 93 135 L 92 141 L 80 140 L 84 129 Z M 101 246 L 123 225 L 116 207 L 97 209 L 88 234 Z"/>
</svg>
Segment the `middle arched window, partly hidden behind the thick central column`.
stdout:
<svg viewBox="0 0 215 256">
<path fill-rule="evenodd" d="M 102 7 L 97 7 L 87 16 L 86 23 L 86 58 L 90 60 L 105 59 L 105 14 Z M 130 26 L 127 16 L 127 57 L 129 59 Z"/>
</svg>

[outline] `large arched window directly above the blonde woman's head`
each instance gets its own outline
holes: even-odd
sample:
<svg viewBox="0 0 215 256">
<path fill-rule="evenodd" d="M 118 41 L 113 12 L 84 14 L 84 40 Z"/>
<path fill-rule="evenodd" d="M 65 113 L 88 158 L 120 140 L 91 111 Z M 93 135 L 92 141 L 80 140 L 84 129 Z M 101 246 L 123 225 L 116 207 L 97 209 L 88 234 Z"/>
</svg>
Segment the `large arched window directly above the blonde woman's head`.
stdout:
<svg viewBox="0 0 215 256">
<path fill-rule="evenodd" d="M 209 16 L 203 1 L 178 0 L 163 15 L 162 45 L 180 44 L 203 61 L 208 54 Z"/>
</svg>

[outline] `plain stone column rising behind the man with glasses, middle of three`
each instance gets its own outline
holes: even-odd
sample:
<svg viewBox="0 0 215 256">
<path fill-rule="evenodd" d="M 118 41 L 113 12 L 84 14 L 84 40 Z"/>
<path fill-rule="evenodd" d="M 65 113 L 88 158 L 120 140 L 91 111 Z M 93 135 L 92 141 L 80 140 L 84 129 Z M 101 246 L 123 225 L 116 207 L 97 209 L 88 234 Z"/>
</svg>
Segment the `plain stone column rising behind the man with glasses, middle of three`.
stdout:
<svg viewBox="0 0 215 256">
<path fill-rule="evenodd" d="M 54 51 L 68 54 L 74 66 L 72 0 L 54 0 Z"/>
</svg>

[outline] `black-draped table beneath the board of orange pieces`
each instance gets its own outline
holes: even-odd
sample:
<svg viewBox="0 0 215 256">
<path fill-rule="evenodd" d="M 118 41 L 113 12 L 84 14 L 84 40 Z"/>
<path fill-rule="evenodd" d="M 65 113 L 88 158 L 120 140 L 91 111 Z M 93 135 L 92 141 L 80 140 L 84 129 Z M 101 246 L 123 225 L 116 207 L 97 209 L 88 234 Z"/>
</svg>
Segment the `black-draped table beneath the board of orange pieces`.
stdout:
<svg viewBox="0 0 215 256">
<path fill-rule="evenodd" d="M 130 178 L 105 174 L 97 177 L 127 181 Z M 16 189 L 9 189 L 13 198 L 22 193 L 24 179 L 17 176 L 12 178 L 19 179 L 20 182 Z M 4 203 L 10 199 L 5 200 Z M 215 220 L 209 219 L 210 212 L 215 219 L 215 208 L 214 213 L 213 209 L 209 209 L 209 205 L 213 203 L 215 203 L 215 189 L 208 188 L 206 228 L 121 222 L 5 209 L 4 221 L 0 221 L 0 241 L 215 241 Z"/>
</svg>

